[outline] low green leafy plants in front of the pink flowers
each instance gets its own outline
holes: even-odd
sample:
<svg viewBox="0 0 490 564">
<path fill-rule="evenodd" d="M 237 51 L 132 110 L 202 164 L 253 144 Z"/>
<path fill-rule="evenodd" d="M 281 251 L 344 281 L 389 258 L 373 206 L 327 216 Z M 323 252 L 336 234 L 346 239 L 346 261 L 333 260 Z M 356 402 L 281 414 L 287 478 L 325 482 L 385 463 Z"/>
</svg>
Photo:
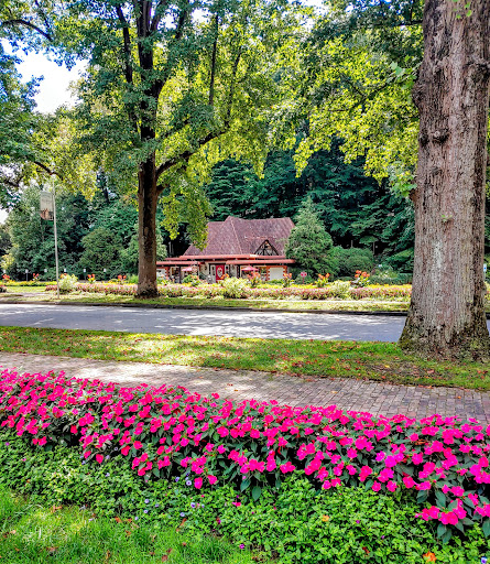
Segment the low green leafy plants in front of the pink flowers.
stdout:
<svg viewBox="0 0 490 564">
<path fill-rule="evenodd" d="M 70 503 L 83 513 L 130 519 L 143 528 L 172 527 L 197 539 L 225 535 L 237 547 L 284 564 L 358 564 L 368 556 L 380 564 L 415 564 L 427 553 L 437 562 L 466 564 L 490 551 L 478 524 L 443 544 L 433 524 L 414 517 L 417 503 L 410 491 L 380 495 L 344 486 L 319 490 L 298 473 L 280 488 L 265 486 L 259 499 L 253 489 L 232 485 L 196 490 L 184 469 L 168 480 L 143 479 L 119 454 L 97 464 L 85 460 L 75 444 L 33 447 L 6 430 L 0 463 L 0 485 L 34 502 Z"/>
</svg>

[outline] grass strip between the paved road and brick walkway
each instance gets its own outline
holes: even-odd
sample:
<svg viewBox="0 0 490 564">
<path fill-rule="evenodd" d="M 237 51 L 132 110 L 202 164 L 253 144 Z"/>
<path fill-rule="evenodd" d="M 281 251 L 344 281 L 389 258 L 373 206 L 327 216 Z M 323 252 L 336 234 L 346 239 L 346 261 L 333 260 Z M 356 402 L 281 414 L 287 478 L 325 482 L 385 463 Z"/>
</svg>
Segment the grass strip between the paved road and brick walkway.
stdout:
<svg viewBox="0 0 490 564">
<path fill-rule="evenodd" d="M 4 327 L 0 350 L 490 390 L 490 364 L 424 360 L 393 343 Z"/>
</svg>

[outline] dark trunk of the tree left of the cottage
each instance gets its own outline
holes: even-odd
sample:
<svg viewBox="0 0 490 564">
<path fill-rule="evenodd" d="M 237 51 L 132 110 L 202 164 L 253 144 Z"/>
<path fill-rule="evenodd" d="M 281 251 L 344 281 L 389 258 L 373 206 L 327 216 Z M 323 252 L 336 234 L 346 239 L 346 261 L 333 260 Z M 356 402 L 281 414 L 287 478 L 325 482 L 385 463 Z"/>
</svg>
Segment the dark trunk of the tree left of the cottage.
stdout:
<svg viewBox="0 0 490 564">
<path fill-rule="evenodd" d="M 156 288 L 156 170 L 155 155 L 140 164 L 138 174 L 139 297 L 155 297 Z"/>
</svg>

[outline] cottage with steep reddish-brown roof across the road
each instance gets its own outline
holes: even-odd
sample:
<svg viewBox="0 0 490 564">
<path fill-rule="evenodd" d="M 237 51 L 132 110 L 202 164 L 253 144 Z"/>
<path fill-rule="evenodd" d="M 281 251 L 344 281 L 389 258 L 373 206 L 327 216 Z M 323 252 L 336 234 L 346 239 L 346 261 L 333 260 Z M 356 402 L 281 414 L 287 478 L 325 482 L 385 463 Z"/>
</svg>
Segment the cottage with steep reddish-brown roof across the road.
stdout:
<svg viewBox="0 0 490 564">
<path fill-rule="evenodd" d="M 280 280 L 294 264 L 286 259 L 284 246 L 294 224 L 288 217 L 241 219 L 228 216 L 225 221 L 209 221 L 205 249 L 194 245 L 181 257 L 159 261 L 159 274 L 183 280 L 194 272 L 216 282 L 226 274 L 240 278 L 260 272 L 263 280 Z"/>
</svg>

